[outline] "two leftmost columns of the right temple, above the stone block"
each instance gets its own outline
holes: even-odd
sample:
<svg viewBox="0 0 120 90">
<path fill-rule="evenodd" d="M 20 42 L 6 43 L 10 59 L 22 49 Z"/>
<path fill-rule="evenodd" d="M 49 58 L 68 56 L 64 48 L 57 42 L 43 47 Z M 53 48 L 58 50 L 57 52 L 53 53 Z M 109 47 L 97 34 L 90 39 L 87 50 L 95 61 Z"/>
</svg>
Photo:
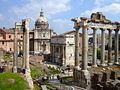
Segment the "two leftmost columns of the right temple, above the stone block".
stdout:
<svg viewBox="0 0 120 90">
<path fill-rule="evenodd" d="M 82 27 L 82 70 L 87 70 L 88 64 L 88 27 Z M 79 28 L 76 28 L 75 35 L 75 68 L 79 69 Z"/>
</svg>

